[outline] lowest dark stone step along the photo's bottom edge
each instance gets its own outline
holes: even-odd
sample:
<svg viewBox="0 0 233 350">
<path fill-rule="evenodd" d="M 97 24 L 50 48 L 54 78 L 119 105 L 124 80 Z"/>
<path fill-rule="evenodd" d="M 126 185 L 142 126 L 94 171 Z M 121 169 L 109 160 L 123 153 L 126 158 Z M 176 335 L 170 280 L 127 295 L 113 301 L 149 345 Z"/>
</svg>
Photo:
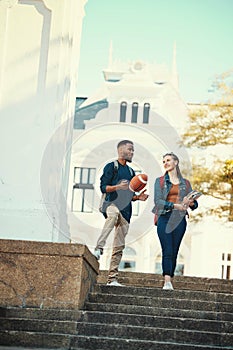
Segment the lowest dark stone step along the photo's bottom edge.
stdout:
<svg viewBox="0 0 233 350">
<path fill-rule="evenodd" d="M 0 331 L 0 350 L 26 349 L 59 349 L 59 350 L 232 350 L 232 346 L 215 346 L 174 341 L 157 341 L 141 339 L 124 339 L 118 337 L 97 336 L 67 336 L 47 333 L 11 332 L 5 334 Z M 9 342 L 10 339 L 10 342 Z M 6 344 L 7 343 L 7 344 Z M 10 349 L 9 349 L 10 348 Z"/>
</svg>

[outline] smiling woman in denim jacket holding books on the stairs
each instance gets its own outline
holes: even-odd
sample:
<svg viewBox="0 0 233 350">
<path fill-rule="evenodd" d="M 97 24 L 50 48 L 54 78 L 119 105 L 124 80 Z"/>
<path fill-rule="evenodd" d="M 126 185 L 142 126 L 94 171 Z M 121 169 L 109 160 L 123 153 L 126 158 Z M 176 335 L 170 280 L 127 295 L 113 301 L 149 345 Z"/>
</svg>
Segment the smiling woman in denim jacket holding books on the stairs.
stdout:
<svg viewBox="0 0 233 350">
<path fill-rule="evenodd" d="M 162 248 L 163 289 L 171 290 L 171 278 L 187 226 L 187 209 L 196 209 L 198 203 L 186 197 L 192 188 L 190 182 L 181 175 L 179 158 L 172 152 L 167 153 L 163 156 L 163 166 L 164 177 L 155 180 L 154 202 L 158 213 L 157 233 Z"/>
</svg>

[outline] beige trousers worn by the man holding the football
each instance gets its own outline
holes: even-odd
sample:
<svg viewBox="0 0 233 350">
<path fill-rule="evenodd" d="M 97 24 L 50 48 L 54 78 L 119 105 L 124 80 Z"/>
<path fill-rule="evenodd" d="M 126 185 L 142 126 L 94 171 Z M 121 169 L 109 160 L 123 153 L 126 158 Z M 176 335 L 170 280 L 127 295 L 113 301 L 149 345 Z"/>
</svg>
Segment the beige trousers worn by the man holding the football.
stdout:
<svg viewBox="0 0 233 350">
<path fill-rule="evenodd" d="M 123 249 L 125 248 L 125 236 L 129 230 L 129 223 L 123 218 L 119 209 L 114 204 L 107 207 L 106 214 L 107 219 L 95 249 L 103 250 L 109 234 L 115 227 L 112 257 L 108 271 L 108 282 L 112 282 L 117 280 L 118 277 L 118 268 L 121 262 Z"/>
</svg>

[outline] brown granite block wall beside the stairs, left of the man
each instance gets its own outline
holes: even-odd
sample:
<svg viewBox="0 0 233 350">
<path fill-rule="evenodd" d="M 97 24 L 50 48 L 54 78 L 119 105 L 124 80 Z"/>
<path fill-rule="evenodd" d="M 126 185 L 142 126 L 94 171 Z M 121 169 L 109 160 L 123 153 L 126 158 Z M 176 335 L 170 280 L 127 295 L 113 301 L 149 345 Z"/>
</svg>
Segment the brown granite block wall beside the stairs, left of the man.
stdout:
<svg viewBox="0 0 233 350">
<path fill-rule="evenodd" d="M 98 271 L 81 244 L 0 240 L 0 305 L 81 308 Z"/>
</svg>

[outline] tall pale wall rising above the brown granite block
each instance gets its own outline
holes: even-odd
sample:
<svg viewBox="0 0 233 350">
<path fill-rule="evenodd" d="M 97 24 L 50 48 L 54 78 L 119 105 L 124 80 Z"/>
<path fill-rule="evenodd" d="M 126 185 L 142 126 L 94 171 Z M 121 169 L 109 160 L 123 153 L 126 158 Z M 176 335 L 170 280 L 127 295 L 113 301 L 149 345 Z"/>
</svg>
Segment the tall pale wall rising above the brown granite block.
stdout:
<svg viewBox="0 0 233 350">
<path fill-rule="evenodd" d="M 0 1 L 1 238 L 69 241 L 66 192 L 85 3 Z"/>
</svg>

